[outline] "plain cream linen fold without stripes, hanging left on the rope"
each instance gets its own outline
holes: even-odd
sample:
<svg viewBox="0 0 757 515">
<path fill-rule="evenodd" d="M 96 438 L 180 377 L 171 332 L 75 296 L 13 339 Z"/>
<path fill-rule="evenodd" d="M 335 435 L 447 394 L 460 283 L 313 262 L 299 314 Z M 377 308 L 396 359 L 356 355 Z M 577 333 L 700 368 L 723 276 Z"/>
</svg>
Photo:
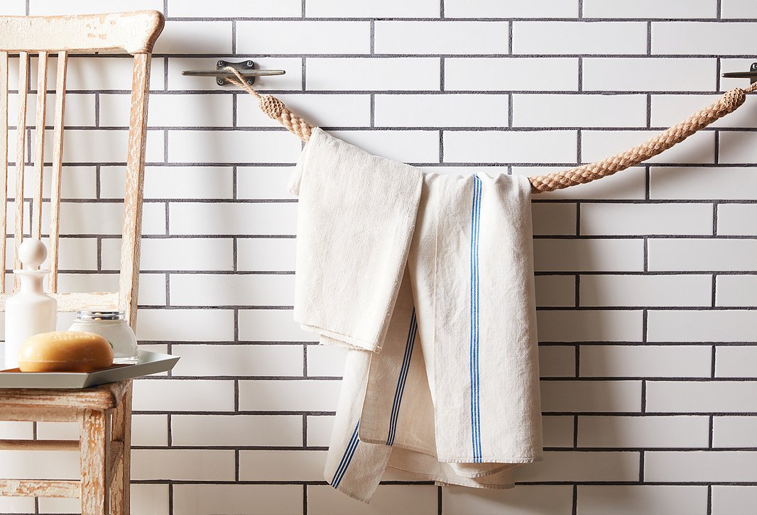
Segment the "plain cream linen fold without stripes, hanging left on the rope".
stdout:
<svg viewBox="0 0 757 515">
<path fill-rule="evenodd" d="M 294 319 L 304 330 L 381 349 L 421 185 L 419 169 L 313 129 L 289 183 L 300 197 Z"/>
</svg>

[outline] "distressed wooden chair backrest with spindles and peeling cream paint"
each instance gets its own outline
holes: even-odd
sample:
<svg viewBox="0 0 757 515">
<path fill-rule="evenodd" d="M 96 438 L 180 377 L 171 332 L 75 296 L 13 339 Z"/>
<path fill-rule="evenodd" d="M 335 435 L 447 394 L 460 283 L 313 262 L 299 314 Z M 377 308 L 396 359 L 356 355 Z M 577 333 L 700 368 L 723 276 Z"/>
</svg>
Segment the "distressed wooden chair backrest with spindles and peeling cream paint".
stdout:
<svg viewBox="0 0 757 515">
<path fill-rule="evenodd" d="M 57 57 L 55 109 L 52 129 L 51 194 L 48 290 L 58 299 L 60 311 L 75 309 L 123 309 L 132 327 L 136 324 L 139 285 L 139 242 L 142 237 L 142 186 L 145 180 L 145 140 L 150 81 L 150 57 L 164 26 L 157 11 L 86 14 L 55 17 L 0 17 L 0 263 L 5 268 L 5 235 L 8 234 L 8 197 L 15 202 L 14 263 L 20 268 L 18 246 L 23 239 L 24 166 L 26 164 L 26 109 L 29 90 L 30 57 L 38 56 L 36 77 L 36 123 L 32 147 L 33 192 L 31 197 L 31 237 L 42 237 L 42 181 L 45 172 L 45 121 L 47 70 L 50 57 Z M 60 229 L 61 166 L 63 163 L 63 118 L 69 54 L 92 52 L 128 53 L 134 56 L 132 97 L 126 149 L 126 191 L 123 206 L 120 280 L 118 292 L 58 293 L 58 234 Z M 16 157 L 8 162 L 8 63 L 18 54 L 18 113 Z M 49 146 L 49 145 L 48 145 Z M 8 191 L 8 165 L 15 170 L 15 191 Z M 17 285 L 16 285 L 17 286 Z M 0 309 L 9 296 L 5 273 L 0 274 Z"/>
</svg>

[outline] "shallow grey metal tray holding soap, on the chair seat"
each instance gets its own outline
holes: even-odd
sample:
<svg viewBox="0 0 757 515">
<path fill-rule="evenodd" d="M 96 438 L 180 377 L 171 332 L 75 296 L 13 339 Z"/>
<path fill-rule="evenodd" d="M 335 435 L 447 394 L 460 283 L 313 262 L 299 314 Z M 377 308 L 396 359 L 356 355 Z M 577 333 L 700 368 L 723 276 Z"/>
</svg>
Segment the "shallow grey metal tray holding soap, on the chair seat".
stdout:
<svg viewBox="0 0 757 515">
<path fill-rule="evenodd" d="M 0 370 L 0 388 L 88 388 L 167 372 L 179 361 L 179 356 L 146 350 L 140 350 L 138 358 L 139 361 L 133 365 L 113 365 L 94 372 L 21 372 L 17 368 Z"/>
</svg>

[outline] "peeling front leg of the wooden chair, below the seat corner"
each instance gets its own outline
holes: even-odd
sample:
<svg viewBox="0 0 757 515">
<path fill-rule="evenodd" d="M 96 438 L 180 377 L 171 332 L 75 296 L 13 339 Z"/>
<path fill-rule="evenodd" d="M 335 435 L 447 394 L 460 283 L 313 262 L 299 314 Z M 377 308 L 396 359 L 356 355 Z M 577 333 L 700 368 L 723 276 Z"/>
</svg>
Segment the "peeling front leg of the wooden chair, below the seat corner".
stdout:
<svg viewBox="0 0 757 515">
<path fill-rule="evenodd" d="M 79 424 L 82 515 L 107 515 L 106 445 L 110 431 L 105 411 L 84 410 Z"/>
</svg>

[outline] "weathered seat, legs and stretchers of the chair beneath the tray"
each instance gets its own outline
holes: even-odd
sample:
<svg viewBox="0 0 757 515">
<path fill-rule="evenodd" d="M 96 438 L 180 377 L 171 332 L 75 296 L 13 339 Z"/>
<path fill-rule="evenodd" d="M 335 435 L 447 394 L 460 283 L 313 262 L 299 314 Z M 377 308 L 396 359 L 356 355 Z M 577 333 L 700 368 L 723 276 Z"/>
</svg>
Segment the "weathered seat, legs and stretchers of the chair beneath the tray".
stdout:
<svg viewBox="0 0 757 515">
<path fill-rule="evenodd" d="M 79 440 L 0 440 L 0 450 L 78 449 L 80 480 L 0 479 L 0 496 L 81 498 L 82 515 L 129 515 L 132 380 L 86 389 L 0 389 L 0 420 L 76 422 Z"/>
</svg>

